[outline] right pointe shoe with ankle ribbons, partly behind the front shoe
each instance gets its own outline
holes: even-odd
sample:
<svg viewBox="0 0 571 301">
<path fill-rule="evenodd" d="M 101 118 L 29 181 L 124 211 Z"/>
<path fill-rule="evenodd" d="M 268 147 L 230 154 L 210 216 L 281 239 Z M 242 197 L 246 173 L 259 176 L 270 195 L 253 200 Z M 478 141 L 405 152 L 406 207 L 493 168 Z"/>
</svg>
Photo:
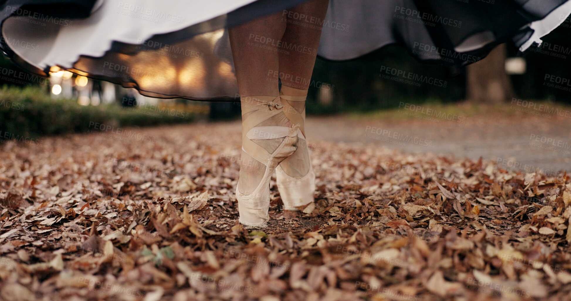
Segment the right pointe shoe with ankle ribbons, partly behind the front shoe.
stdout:
<svg viewBox="0 0 571 301">
<path fill-rule="evenodd" d="M 299 211 L 297 207 L 313 202 L 313 193 L 315 192 L 315 173 L 311 166 L 304 136 L 307 90 L 293 89 L 282 85 L 280 98 L 282 98 L 282 110 L 286 117 L 301 126 L 297 132 L 299 147 L 296 154 L 283 160 L 276 167 L 276 184 L 284 204 L 284 210 Z"/>
</svg>

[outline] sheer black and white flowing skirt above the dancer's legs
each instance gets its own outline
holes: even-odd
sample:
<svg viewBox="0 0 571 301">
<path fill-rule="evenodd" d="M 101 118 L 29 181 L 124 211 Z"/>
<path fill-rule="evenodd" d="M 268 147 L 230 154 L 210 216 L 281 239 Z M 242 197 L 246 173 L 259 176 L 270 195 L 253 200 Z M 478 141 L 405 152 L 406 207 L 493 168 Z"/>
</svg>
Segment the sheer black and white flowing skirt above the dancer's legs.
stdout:
<svg viewBox="0 0 571 301">
<path fill-rule="evenodd" d="M 236 101 L 227 29 L 263 15 L 279 13 L 287 26 L 323 25 L 323 58 L 352 59 L 399 43 L 420 61 L 465 66 L 504 42 L 523 52 L 571 13 L 566 0 L 330 0 L 318 19 L 289 11 L 301 2 L 7 1 L 0 46 L 38 75 L 70 70 L 150 97 Z M 307 51 L 254 33 L 248 46 Z"/>
</svg>

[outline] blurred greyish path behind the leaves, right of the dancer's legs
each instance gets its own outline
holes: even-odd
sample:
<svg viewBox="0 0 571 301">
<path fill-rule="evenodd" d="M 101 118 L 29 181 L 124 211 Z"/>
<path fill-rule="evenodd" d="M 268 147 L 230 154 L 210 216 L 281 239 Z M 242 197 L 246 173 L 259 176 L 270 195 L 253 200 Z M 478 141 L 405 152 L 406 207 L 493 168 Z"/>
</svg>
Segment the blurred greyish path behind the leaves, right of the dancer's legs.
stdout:
<svg viewBox="0 0 571 301">
<path fill-rule="evenodd" d="M 432 152 L 456 158 L 482 156 L 499 161 L 506 169 L 571 171 L 569 118 L 490 114 L 465 121 L 309 117 L 306 129 L 310 141 L 373 143 L 405 152 Z"/>
</svg>

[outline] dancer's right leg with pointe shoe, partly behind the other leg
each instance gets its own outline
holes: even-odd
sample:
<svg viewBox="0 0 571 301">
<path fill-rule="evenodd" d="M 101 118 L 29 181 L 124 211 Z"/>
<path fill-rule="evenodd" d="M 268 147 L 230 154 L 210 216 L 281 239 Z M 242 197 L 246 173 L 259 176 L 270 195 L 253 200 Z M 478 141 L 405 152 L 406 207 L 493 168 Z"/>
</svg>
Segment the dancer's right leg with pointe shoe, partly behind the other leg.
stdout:
<svg viewBox="0 0 571 301">
<path fill-rule="evenodd" d="M 286 117 L 293 124 L 299 124 L 305 135 L 305 98 L 311 83 L 311 74 L 319 39 L 321 26 L 327 13 L 328 0 L 305 2 L 284 11 L 283 18 L 288 18 L 286 32 L 282 38 L 283 45 L 289 53 L 279 55 L 279 75 L 282 81 L 282 104 Z M 300 17 L 307 16 L 307 17 Z M 317 22 L 307 22 L 316 20 Z M 307 23 L 303 26 L 301 23 Z M 288 47 L 293 46 L 294 47 Z M 301 47 L 299 47 L 301 46 Z M 296 51 L 300 49 L 301 51 Z M 313 201 L 315 175 L 311 170 L 311 161 L 307 150 L 307 142 L 300 138 L 297 151 L 283 160 L 278 167 L 278 188 L 286 209 L 293 210 Z M 285 175 L 283 175 L 285 174 Z"/>
</svg>

